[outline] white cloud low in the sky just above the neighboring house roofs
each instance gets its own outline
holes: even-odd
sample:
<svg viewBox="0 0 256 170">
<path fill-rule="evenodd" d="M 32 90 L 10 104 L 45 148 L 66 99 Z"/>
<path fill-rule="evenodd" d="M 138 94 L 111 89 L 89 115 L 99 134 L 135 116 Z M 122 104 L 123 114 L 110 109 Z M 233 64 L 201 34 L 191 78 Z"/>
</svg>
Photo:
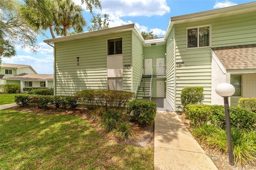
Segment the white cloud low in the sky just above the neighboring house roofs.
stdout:
<svg viewBox="0 0 256 170">
<path fill-rule="evenodd" d="M 29 64 L 37 73 L 53 74 L 53 60 L 48 57 L 41 59 L 30 55 L 17 55 L 11 58 L 2 58 L 2 63 Z"/>
</svg>

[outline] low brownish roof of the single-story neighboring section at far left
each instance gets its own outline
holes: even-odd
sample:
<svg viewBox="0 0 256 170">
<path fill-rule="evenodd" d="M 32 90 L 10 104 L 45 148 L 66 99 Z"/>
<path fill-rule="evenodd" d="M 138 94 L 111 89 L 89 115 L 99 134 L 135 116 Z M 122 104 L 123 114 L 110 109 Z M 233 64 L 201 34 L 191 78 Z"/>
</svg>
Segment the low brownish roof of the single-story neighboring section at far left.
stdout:
<svg viewBox="0 0 256 170">
<path fill-rule="evenodd" d="M 45 81 L 53 80 L 53 74 L 19 74 L 3 80 L 21 80 L 21 81 Z"/>
</svg>

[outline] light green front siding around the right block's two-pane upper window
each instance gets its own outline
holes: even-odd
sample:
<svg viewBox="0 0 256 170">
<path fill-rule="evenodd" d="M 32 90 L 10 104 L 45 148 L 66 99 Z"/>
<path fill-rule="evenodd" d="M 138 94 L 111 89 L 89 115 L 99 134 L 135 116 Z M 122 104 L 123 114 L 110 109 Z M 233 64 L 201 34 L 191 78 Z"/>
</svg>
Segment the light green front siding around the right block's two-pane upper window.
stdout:
<svg viewBox="0 0 256 170">
<path fill-rule="evenodd" d="M 211 25 L 212 47 L 245 45 L 256 43 L 256 13 L 234 15 L 211 20 L 189 22 L 175 27 L 176 102 L 180 104 L 181 90 L 188 86 L 204 87 L 204 104 L 211 104 L 211 52 L 210 47 L 187 49 L 186 29 L 200 25 Z"/>
</svg>

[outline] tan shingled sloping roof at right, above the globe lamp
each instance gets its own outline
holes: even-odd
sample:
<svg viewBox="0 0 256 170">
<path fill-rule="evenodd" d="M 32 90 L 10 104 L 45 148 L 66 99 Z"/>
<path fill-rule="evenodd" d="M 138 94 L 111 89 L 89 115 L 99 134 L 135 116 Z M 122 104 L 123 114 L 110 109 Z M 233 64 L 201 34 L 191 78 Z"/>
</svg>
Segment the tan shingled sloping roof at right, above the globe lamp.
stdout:
<svg viewBox="0 0 256 170">
<path fill-rule="evenodd" d="M 256 44 L 212 48 L 227 70 L 256 69 Z"/>
</svg>

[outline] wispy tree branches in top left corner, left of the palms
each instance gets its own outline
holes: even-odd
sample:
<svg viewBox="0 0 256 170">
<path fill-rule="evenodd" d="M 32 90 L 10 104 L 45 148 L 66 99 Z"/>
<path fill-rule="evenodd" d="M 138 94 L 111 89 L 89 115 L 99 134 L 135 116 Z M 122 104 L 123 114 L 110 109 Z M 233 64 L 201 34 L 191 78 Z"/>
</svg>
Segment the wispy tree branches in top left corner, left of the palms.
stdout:
<svg viewBox="0 0 256 170">
<path fill-rule="evenodd" d="M 16 0 L 0 1 L 0 62 L 16 54 L 16 45 L 35 51 L 37 32 L 21 19 L 20 5 Z"/>
</svg>

